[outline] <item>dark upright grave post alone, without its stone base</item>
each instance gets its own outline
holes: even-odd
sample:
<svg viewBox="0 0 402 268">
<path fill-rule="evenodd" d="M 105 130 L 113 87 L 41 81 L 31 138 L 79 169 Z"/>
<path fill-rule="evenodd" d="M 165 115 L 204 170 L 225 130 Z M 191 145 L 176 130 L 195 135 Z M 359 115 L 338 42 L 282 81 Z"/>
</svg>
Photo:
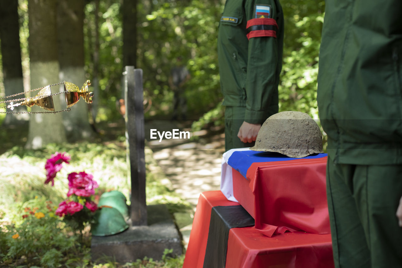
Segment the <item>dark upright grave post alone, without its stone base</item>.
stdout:
<svg viewBox="0 0 402 268">
<path fill-rule="evenodd" d="M 127 154 L 131 171 L 130 218 L 133 226 L 147 225 L 142 69 L 125 66 L 123 74 Z"/>
</svg>

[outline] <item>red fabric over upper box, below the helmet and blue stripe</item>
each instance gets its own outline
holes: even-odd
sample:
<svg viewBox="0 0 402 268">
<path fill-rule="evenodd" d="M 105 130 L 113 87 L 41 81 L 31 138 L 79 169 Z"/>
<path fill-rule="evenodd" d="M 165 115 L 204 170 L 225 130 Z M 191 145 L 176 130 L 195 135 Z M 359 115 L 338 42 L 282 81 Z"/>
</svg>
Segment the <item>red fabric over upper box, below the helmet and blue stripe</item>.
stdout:
<svg viewBox="0 0 402 268">
<path fill-rule="evenodd" d="M 244 178 L 232 170 L 234 197 L 269 237 L 285 231 L 330 233 L 326 200 L 326 160 L 254 163 Z"/>
</svg>

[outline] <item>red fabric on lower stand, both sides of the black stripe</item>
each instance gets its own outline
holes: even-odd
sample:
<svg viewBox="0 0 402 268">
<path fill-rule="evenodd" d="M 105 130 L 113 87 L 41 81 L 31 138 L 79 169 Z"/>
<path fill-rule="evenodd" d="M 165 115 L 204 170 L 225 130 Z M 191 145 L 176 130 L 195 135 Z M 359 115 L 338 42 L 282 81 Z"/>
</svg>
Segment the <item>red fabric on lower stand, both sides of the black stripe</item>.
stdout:
<svg viewBox="0 0 402 268">
<path fill-rule="evenodd" d="M 221 191 L 200 195 L 183 268 L 203 268 L 211 209 L 213 206 L 233 205 L 238 203 L 228 201 Z M 333 266 L 330 234 L 299 231 L 267 237 L 254 227 L 230 229 L 226 268 Z"/>
</svg>

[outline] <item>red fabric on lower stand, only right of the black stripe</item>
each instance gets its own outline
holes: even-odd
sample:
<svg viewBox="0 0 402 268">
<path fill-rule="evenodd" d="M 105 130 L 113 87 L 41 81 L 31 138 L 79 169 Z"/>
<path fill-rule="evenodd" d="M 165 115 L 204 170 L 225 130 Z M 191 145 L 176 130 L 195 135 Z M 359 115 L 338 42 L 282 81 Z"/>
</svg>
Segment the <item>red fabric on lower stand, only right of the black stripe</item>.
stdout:
<svg viewBox="0 0 402 268">
<path fill-rule="evenodd" d="M 226 268 L 332 268 L 331 235 L 304 232 L 266 237 L 253 227 L 230 229 Z"/>
</svg>

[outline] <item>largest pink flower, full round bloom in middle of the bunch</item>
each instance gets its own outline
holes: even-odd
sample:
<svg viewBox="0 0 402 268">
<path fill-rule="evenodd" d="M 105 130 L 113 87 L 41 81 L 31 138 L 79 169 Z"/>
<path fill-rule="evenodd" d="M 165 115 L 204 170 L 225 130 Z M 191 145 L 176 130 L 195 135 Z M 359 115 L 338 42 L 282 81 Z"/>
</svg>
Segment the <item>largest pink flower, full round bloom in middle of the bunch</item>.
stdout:
<svg viewBox="0 0 402 268">
<path fill-rule="evenodd" d="M 98 183 L 93 180 L 91 174 L 85 172 L 68 174 L 68 193 L 67 196 L 75 194 L 76 196 L 91 196 L 95 194 L 95 188 L 98 188 Z"/>
</svg>

